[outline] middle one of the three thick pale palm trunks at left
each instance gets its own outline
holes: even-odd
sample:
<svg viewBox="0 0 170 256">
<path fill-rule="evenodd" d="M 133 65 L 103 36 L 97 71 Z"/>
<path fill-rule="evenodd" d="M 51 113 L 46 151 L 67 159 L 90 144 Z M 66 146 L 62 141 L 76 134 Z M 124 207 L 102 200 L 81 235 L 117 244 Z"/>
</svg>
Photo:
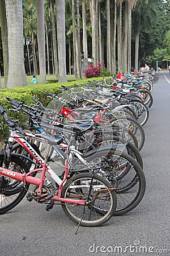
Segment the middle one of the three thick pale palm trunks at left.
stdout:
<svg viewBox="0 0 170 256">
<path fill-rule="evenodd" d="M 45 27 L 44 27 L 44 0 L 36 0 L 37 5 L 37 40 L 39 46 L 39 68 L 41 84 L 45 84 Z"/>
</svg>

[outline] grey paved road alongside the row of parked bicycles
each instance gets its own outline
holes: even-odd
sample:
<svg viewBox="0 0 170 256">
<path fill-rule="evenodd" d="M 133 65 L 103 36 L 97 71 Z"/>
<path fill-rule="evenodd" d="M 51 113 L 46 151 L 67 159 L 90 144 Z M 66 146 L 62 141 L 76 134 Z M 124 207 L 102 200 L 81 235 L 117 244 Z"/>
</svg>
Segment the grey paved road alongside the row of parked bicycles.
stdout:
<svg viewBox="0 0 170 256">
<path fill-rule="evenodd" d="M 146 143 L 141 152 L 147 187 L 138 207 L 125 216 L 113 217 L 99 228 L 80 227 L 75 236 L 76 225 L 63 214 L 60 206 L 46 212 L 44 206 L 33 208 L 33 203 L 23 200 L 1 216 L 0 255 L 170 255 L 164 251 L 169 249 L 168 72 L 160 73 L 152 95 L 154 105 L 144 127 Z"/>
</svg>

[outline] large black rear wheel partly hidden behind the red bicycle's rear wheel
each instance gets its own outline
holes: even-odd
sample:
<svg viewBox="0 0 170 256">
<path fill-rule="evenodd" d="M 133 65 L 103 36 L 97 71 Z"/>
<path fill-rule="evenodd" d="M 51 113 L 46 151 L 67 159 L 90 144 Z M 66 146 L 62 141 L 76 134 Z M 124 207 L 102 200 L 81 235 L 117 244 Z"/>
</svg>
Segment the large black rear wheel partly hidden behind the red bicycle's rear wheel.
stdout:
<svg viewBox="0 0 170 256">
<path fill-rule="evenodd" d="M 89 154 L 89 152 L 88 152 Z M 104 162 L 100 175 L 113 184 L 117 181 L 117 208 L 114 215 L 133 210 L 145 194 L 146 180 L 141 166 L 130 155 L 118 150 L 106 152 L 102 147 L 97 154 L 85 158 L 88 163 Z"/>
</svg>

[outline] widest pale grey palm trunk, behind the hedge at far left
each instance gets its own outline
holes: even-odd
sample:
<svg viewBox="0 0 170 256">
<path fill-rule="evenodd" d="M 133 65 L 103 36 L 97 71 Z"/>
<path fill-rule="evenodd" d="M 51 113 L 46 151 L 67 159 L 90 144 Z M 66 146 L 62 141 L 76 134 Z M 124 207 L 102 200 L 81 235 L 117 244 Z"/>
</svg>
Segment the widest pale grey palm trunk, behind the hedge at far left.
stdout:
<svg viewBox="0 0 170 256">
<path fill-rule="evenodd" d="M 8 79 L 7 87 L 27 85 L 24 67 L 23 9 L 22 0 L 6 1 L 8 30 Z M 16 44 L 17 42 L 17 44 Z"/>
</svg>

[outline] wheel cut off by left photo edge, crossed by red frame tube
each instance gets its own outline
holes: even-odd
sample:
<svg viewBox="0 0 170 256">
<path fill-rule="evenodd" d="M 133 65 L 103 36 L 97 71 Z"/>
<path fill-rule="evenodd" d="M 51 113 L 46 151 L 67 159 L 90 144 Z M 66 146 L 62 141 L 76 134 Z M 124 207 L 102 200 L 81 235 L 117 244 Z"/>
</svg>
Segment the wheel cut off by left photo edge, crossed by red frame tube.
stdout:
<svg viewBox="0 0 170 256">
<path fill-rule="evenodd" d="M 4 154 L 0 154 L 0 166 L 6 168 Z M 0 167 L 0 168 L 1 168 Z M 12 155 L 8 170 L 21 174 L 28 172 L 27 165 L 18 157 Z M 11 210 L 22 201 L 29 184 L 0 175 L 0 214 Z"/>
</svg>

